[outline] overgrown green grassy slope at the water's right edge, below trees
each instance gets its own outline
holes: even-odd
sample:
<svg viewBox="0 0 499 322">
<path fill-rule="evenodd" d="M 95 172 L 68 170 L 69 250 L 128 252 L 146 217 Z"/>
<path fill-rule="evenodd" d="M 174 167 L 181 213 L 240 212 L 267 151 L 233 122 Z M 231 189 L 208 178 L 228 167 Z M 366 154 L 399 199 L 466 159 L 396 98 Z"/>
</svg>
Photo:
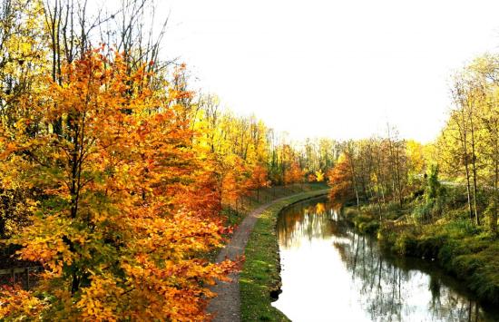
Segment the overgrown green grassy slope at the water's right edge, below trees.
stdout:
<svg viewBox="0 0 499 322">
<path fill-rule="evenodd" d="M 499 239 L 476 227 L 465 211 L 449 210 L 438 220 L 421 223 L 411 215 L 415 210 L 410 205 L 389 210 L 384 220 L 379 220 L 373 206 L 347 208 L 343 213 L 358 231 L 375 234 L 384 249 L 434 261 L 463 281 L 480 301 L 499 305 Z"/>
</svg>

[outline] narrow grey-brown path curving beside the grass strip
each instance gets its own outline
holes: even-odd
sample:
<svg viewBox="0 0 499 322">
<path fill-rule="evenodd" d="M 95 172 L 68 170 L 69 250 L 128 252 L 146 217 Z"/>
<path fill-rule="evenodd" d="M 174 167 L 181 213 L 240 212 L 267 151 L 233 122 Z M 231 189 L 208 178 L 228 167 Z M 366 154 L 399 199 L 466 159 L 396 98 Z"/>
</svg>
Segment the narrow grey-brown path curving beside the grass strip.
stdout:
<svg viewBox="0 0 499 322">
<path fill-rule="evenodd" d="M 303 193 L 303 192 L 302 192 Z M 273 204 L 295 197 L 301 193 L 289 195 L 269 203 L 259 206 L 252 210 L 248 216 L 240 223 L 240 226 L 234 232 L 229 244 L 220 250 L 217 257 L 217 263 L 224 259 L 235 260 L 244 254 L 244 249 L 248 243 L 249 234 L 253 230 L 253 226 L 259 219 L 261 213 L 268 209 Z M 216 298 L 211 299 L 208 306 L 208 312 L 215 314 L 214 321 L 216 322 L 237 322 L 240 321 L 240 275 L 234 273 L 230 275 L 231 282 L 219 282 L 211 290 L 218 294 Z"/>
</svg>

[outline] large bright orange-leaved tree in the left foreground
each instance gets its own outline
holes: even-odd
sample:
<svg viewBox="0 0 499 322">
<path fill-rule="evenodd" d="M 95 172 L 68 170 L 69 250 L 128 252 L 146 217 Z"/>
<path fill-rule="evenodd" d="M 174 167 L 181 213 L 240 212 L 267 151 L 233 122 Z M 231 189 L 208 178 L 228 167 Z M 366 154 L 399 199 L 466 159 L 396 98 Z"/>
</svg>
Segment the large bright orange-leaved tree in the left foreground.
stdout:
<svg viewBox="0 0 499 322">
<path fill-rule="evenodd" d="M 63 85 L 24 98 L 31 117 L 2 129 L 2 188 L 38 191 L 32 224 L 11 242 L 44 266 L 33 291 L 0 292 L 4 317 L 199 320 L 206 285 L 231 268 L 197 257 L 219 245 L 220 227 L 191 201 L 210 174 L 174 103 L 188 93 L 152 92 L 152 74 L 112 56 L 99 49 L 65 65 Z M 24 131 L 34 119 L 36 132 Z"/>
</svg>

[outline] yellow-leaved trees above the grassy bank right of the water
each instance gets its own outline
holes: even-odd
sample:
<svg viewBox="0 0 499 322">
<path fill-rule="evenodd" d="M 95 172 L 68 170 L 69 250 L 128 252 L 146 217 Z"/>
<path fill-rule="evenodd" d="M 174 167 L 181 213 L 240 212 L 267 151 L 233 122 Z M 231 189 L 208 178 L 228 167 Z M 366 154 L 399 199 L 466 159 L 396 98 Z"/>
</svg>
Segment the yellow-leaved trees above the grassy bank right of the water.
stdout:
<svg viewBox="0 0 499 322">
<path fill-rule="evenodd" d="M 380 210 L 388 201 L 414 206 L 413 215 L 423 221 L 464 206 L 476 226 L 495 232 L 499 57 L 478 57 L 453 80 L 453 107 L 435 142 L 402 140 L 392 129 L 384 138 L 344 142 L 338 163 L 328 173 L 333 200 L 370 202 Z"/>
</svg>

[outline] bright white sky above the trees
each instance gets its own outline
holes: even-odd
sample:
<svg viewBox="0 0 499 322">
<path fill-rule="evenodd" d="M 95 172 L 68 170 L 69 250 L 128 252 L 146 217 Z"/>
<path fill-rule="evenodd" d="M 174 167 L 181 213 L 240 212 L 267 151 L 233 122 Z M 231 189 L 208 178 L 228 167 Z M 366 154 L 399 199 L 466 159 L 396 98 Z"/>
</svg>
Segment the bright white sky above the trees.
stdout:
<svg viewBox="0 0 499 322">
<path fill-rule="evenodd" d="M 450 77 L 499 46 L 499 1 L 164 0 L 166 58 L 234 112 L 293 139 L 432 141 Z"/>
</svg>

